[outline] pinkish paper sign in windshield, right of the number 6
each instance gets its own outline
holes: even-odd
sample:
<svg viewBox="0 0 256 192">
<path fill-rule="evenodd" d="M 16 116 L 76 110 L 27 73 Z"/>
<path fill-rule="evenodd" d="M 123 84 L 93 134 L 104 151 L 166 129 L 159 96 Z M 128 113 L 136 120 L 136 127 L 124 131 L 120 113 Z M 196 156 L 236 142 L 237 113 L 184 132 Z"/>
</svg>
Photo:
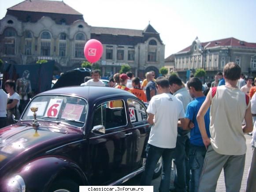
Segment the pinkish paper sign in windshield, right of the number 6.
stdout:
<svg viewBox="0 0 256 192">
<path fill-rule="evenodd" d="M 79 121 L 83 109 L 84 109 L 83 105 L 67 103 L 65 106 L 65 109 L 63 110 L 61 118 L 69 118 L 69 119 L 74 119 Z"/>
</svg>

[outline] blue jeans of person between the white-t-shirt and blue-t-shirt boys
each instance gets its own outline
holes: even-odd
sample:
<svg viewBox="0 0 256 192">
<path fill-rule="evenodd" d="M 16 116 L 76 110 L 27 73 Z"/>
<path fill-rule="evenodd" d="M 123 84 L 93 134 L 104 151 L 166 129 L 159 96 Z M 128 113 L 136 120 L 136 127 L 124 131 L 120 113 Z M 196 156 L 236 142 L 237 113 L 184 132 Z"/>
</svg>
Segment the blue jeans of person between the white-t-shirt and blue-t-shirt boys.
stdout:
<svg viewBox="0 0 256 192">
<path fill-rule="evenodd" d="M 177 170 L 177 177 L 174 181 L 174 187 L 177 192 L 186 192 L 186 185 L 189 186 L 189 183 L 186 183 L 186 178 L 189 177 L 186 174 L 189 173 L 189 166 L 186 163 L 186 157 L 189 150 L 186 150 L 188 145 L 188 136 L 178 136 L 176 141 L 175 148 L 175 165 Z M 187 166 L 186 166 L 187 165 Z"/>
</svg>

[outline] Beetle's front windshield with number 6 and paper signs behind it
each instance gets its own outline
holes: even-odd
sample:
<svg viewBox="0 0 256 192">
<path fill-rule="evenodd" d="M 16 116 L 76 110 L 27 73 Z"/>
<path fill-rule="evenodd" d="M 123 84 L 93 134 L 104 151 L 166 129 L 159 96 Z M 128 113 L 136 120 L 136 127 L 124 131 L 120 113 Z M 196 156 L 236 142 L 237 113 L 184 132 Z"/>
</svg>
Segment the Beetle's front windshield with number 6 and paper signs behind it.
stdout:
<svg viewBox="0 0 256 192">
<path fill-rule="evenodd" d="M 73 96 L 43 95 L 35 97 L 22 115 L 22 120 L 33 120 L 31 107 L 37 107 L 38 121 L 67 123 L 83 127 L 87 113 L 85 100 Z M 36 109 L 35 109 L 36 110 Z"/>
</svg>

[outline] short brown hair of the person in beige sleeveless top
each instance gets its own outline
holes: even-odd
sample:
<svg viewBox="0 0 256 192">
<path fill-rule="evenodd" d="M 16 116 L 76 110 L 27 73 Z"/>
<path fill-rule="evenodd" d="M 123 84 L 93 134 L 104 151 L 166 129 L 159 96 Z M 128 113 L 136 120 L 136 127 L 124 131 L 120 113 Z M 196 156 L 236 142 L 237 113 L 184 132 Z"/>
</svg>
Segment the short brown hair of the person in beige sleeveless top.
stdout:
<svg viewBox="0 0 256 192">
<path fill-rule="evenodd" d="M 236 63 L 229 62 L 224 66 L 223 73 L 226 79 L 235 81 L 241 77 L 241 68 Z"/>
</svg>

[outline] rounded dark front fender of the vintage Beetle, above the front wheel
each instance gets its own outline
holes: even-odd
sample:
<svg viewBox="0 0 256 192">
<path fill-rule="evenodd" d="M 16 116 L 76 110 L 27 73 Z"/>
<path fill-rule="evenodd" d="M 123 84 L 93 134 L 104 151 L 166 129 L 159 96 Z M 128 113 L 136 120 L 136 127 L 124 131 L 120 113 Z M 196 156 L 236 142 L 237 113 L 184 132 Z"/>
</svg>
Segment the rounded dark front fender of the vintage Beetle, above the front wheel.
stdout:
<svg viewBox="0 0 256 192">
<path fill-rule="evenodd" d="M 26 163 L 17 172 L 26 185 L 26 191 L 45 191 L 58 179 L 70 179 L 78 185 L 88 185 L 82 169 L 61 156 L 44 156 Z"/>
</svg>

